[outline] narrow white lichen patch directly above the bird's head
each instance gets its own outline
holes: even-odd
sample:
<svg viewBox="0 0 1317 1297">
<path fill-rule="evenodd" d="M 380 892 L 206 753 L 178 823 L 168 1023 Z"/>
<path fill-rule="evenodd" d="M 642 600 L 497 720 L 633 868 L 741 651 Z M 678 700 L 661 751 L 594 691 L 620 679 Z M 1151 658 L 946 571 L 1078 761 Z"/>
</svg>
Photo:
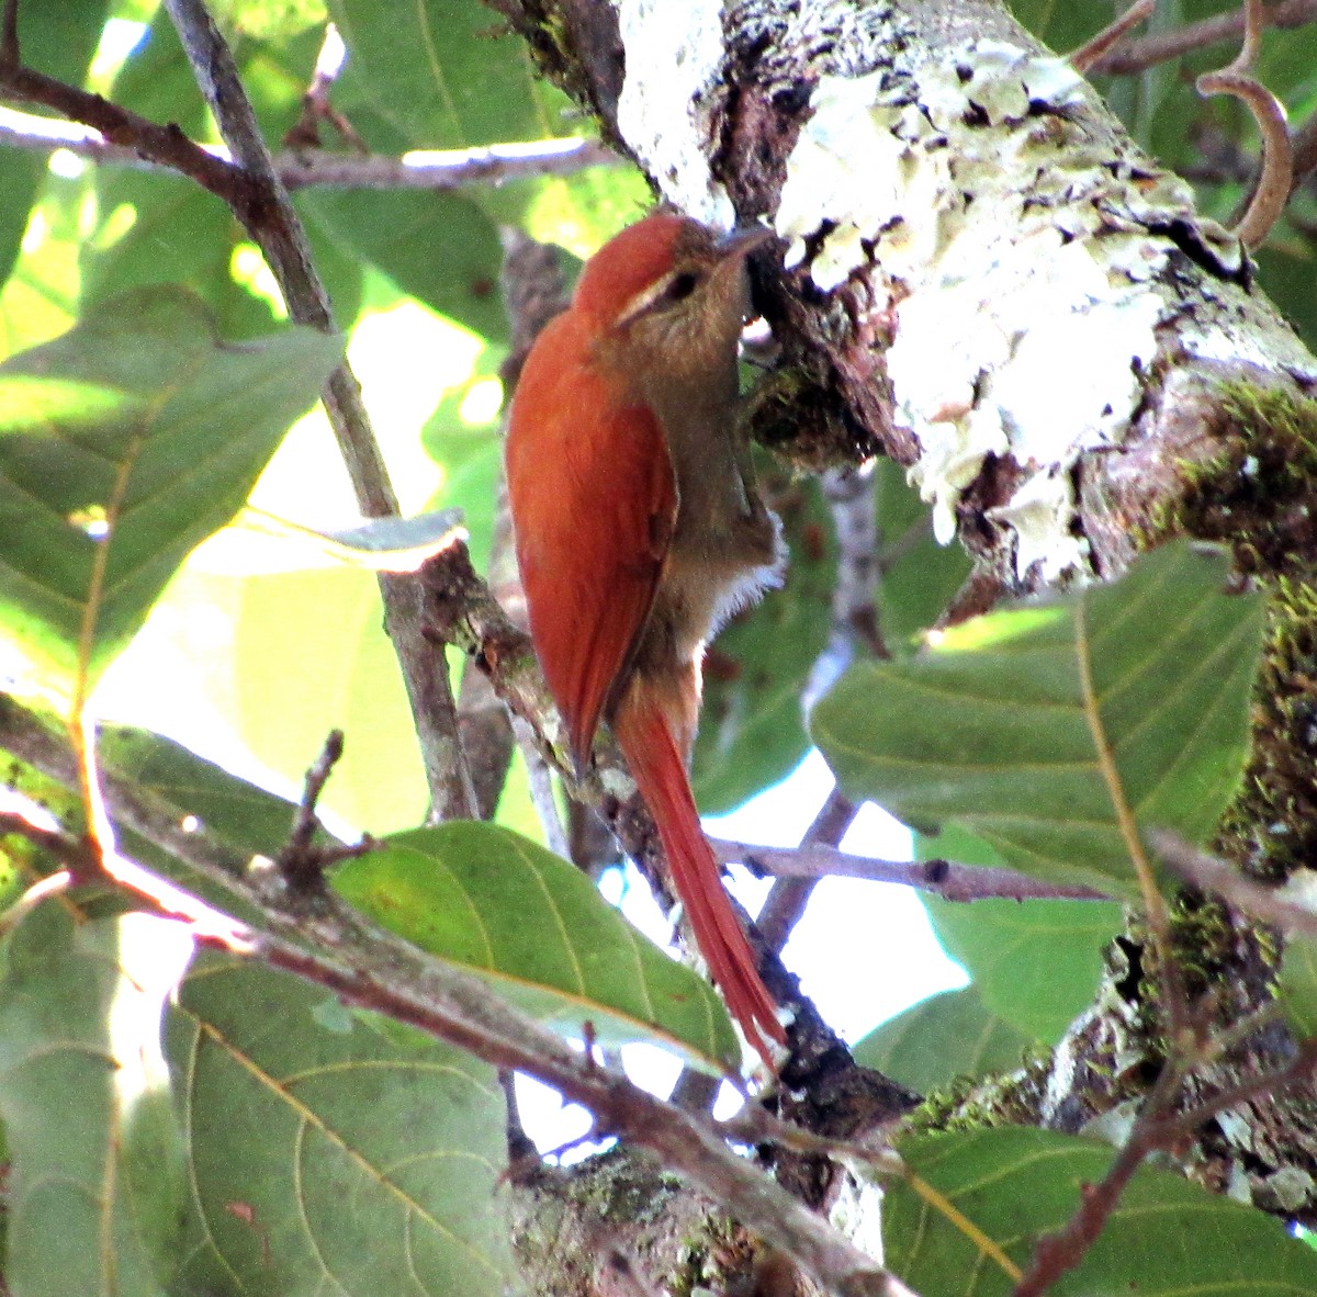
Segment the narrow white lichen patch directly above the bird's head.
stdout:
<svg viewBox="0 0 1317 1297">
<path fill-rule="evenodd" d="M 722 4 L 619 0 L 618 28 L 627 55 L 618 129 L 668 201 L 727 229 L 735 212 L 709 174 L 709 141 L 698 112 L 722 66 Z"/>
</svg>

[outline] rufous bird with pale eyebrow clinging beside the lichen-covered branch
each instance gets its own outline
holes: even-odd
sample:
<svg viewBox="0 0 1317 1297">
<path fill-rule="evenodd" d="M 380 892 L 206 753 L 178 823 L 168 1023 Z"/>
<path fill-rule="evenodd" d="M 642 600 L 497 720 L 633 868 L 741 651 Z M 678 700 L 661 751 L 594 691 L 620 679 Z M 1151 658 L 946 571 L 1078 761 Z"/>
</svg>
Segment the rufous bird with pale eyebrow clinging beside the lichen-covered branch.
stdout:
<svg viewBox="0 0 1317 1297">
<path fill-rule="evenodd" d="M 531 640 L 576 769 L 606 722 L 710 976 L 774 1072 L 785 1032 L 686 773 L 705 645 L 785 564 L 736 424 L 745 262 L 772 238 L 662 208 L 615 234 L 527 357 L 504 466 Z"/>
</svg>

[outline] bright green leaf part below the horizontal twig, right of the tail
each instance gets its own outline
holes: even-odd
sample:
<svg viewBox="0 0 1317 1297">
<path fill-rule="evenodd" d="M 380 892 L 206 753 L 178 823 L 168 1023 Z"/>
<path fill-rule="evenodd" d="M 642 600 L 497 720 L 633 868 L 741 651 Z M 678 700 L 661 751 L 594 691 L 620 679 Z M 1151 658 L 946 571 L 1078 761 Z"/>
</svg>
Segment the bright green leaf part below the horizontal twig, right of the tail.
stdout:
<svg viewBox="0 0 1317 1297">
<path fill-rule="evenodd" d="M 922 899 L 986 1011 L 1048 1046 L 1093 1002 L 1102 951 L 1123 926 L 1121 907 L 1100 901 Z"/>
</svg>

